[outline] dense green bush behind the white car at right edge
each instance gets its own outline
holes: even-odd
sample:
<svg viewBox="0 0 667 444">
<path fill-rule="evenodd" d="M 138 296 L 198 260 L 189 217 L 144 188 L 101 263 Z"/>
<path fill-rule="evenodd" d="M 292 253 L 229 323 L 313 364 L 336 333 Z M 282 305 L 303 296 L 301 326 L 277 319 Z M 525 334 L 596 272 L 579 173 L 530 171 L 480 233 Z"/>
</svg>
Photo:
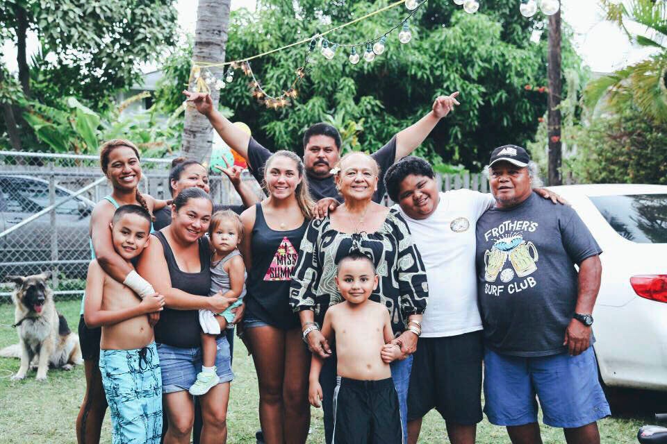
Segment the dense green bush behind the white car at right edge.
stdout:
<svg viewBox="0 0 667 444">
<path fill-rule="evenodd" d="M 667 123 L 638 108 L 598 117 L 573 140 L 577 153 L 564 164 L 579 182 L 667 185 Z"/>
</svg>

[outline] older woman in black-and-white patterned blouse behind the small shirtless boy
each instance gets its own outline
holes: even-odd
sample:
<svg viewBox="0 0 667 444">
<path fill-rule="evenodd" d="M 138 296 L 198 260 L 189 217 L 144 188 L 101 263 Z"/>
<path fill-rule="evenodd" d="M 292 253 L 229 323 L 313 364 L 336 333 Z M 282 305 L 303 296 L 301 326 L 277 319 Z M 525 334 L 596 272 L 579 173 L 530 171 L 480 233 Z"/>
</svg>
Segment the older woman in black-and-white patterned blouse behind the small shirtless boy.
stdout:
<svg viewBox="0 0 667 444">
<path fill-rule="evenodd" d="M 327 358 L 320 375 L 327 443 L 331 443 L 334 425 L 336 356 L 318 327 L 327 309 L 343 300 L 334 282 L 336 264 L 352 249 L 361 250 L 374 262 L 380 279 L 370 298 L 387 307 L 394 341 L 404 353 L 402 360 L 391 364 L 391 373 L 406 434 L 411 353 L 416 349 L 428 298 L 425 267 L 400 213 L 372 201 L 379 175 L 377 162 L 364 153 L 351 153 L 340 160 L 335 173 L 345 203 L 308 225 L 290 284 L 290 304 L 299 312 L 308 348 Z"/>
</svg>

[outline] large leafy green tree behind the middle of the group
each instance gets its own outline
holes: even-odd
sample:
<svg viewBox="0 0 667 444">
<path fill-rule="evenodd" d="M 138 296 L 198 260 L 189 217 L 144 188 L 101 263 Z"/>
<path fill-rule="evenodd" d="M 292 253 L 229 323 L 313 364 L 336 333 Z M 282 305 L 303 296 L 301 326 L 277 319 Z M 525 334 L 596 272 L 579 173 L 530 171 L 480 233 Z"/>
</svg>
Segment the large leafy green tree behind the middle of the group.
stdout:
<svg viewBox="0 0 667 444">
<path fill-rule="evenodd" d="M 233 12 L 227 60 L 301 40 L 386 4 L 262 1 L 256 12 Z M 393 8 L 327 37 L 339 44 L 361 42 L 381 35 L 406 15 L 404 7 Z M 313 54 L 311 70 L 290 108 L 275 112 L 256 103 L 249 95 L 249 80 L 240 70 L 221 92 L 220 103 L 233 109 L 236 119 L 247 123 L 254 137 L 272 149 L 300 152 L 305 128 L 334 119 L 343 128 L 353 123 L 357 125 L 353 128 L 363 128 L 356 131 L 359 147 L 355 149 L 375 150 L 426 114 L 436 96 L 459 90 L 461 106 L 438 124 L 419 153 L 432 160 L 437 159 L 436 153 L 448 162 L 479 169 L 495 146 L 525 144 L 532 139 L 537 118 L 545 112 L 546 95 L 524 89 L 527 84 L 546 83 L 545 39 L 539 44 L 529 42 L 534 26 L 544 24 L 543 17 L 536 20 L 522 17 L 514 0 L 484 2 L 475 15 L 466 14 L 451 1 L 431 0 L 411 19 L 413 40 L 402 45 L 395 31 L 388 38 L 386 52 L 372 64 L 362 60 L 351 65 L 349 50 L 340 48 L 334 60 Z M 580 60 L 569 42 L 564 45 L 564 67 L 578 69 Z M 267 92 L 281 94 L 292 83 L 306 46 L 252 62 Z M 181 74 L 176 78 L 182 81 L 189 66 L 178 71 Z M 172 89 L 171 94 L 174 92 Z"/>
</svg>

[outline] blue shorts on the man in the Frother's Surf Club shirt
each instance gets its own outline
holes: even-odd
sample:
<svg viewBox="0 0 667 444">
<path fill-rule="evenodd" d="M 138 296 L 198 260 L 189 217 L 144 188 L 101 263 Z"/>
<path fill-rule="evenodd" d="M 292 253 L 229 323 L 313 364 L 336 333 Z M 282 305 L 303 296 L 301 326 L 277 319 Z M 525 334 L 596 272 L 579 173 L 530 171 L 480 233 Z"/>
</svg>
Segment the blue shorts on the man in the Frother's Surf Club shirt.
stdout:
<svg viewBox="0 0 667 444">
<path fill-rule="evenodd" d="M 544 423 L 551 427 L 582 427 L 611 415 L 592 346 L 578 356 L 516 357 L 484 350 L 484 413 L 489 422 L 537 422 L 536 398 Z"/>
</svg>

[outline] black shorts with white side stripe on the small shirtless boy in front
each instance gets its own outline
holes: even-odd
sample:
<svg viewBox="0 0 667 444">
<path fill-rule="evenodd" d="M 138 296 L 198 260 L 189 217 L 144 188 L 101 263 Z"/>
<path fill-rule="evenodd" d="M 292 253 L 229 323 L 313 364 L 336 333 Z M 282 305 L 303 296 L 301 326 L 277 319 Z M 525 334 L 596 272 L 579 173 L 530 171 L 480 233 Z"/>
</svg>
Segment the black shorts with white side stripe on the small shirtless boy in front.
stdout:
<svg viewBox="0 0 667 444">
<path fill-rule="evenodd" d="M 401 444 L 403 430 L 393 379 L 338 377 L 334 391 L 334 444 Z"/>
</svg>

